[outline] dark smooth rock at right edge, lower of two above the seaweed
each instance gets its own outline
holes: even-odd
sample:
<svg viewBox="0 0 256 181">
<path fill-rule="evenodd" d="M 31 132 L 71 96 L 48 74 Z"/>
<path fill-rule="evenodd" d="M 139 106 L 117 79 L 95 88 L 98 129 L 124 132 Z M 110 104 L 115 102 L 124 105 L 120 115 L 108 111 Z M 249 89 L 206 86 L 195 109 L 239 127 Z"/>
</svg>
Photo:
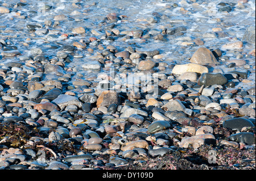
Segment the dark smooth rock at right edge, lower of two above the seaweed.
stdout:
<svg viewBox="0 0 256 181">
<path fill-rule="evenodd" d="M 248 145 L 255 144 L 255 136 L 253 133 L 236 133 L 228 137 L 231 141 L 244 142 Z"/>
</svg>

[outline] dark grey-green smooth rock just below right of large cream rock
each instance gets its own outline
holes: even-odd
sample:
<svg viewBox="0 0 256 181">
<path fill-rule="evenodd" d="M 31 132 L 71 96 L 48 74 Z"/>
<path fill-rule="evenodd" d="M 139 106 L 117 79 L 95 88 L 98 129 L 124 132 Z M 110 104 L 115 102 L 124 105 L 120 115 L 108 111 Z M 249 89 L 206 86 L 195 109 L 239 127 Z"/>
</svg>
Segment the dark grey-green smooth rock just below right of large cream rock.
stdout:
<svg viewBox="0 0 256 181">
<path fill-rule="evenodd" d="M 225 83 L 228 82 L 228 79 L 224 77 L 221 73 L 203 73 L 199 77 L 198 85 L 202 86 L 205 85 L 211 86 L 211 85 L 225 85 Z"/>
</svg>

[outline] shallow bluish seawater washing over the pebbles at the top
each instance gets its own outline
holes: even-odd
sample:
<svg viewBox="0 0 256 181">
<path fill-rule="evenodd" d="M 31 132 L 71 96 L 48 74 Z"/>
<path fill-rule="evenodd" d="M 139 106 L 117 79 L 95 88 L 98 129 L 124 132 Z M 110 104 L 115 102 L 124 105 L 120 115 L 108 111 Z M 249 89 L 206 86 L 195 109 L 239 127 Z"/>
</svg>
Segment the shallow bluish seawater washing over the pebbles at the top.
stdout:
<svg viewBox="0 0 256 181">
<path fill-rule="evenodd" d="M 230 12 L 219 12 L 221 2 L 232 7 Z M 16 7 L 18 1 L 1 1 L 0 6 L 9 6 L 11 10 L 8 14 L 1 14 L 0 35 L 1 39 L 9 39 L 11 45 L 18 47 L 22 56 L 31 56 L 31 48 L 42 48 L 43 53 L 49 58 L 56 57 L 59 49 L 51 49 L 45 44 L 61 47 L 62 45 L 72 45 L 74 41 L 85 40 L 96 36 L 101 39 L 104 47 L 114 45 L 119 50 L 125 50 L 126 47 L 158 49 L 163 58 L 155 60 L 156 62 L 167 62 L 170 64 L 186 64 L 189 58 L 199 47 L 206 47 L 210 50 L 220 48 L 231 41 L 241 40 L 248 26 L 255 24 L 255 0 L 241 3 L 238 1 L 24 1 L 26 6 Z M 24 16 L 21 18 L 20 16 Z M 115 13 L 118 19 L 106 21 L 106 16 Z M 67 18 L 59 20 L 59 24 L 53 27 L 57 22 L 54 20 L 56 15 L 65 15 Z M 46 26 L 44 22 L 50 20 L 51 26 Z M 102 35 L 93 35 L 92 30 L 105 33 L 109 24 L 114 23 L 114 28 L 119 32 L 126 30 L 143 30 L 142 37 L 131 38 L 125 41 L 122 36 L 115 36 L 114 41 L 102 37 Z M 32 35 L 28 32 L 27 24 L 34 24 L 40 27 L 48 28 L 46 35 Z M 164 29 L 169 30 L 173 27 L 184 26 L 187 31 L 175 33 L 174 35 L 164 35 L 164 41 L 154 40 L 154 30 L 161 33 Z M 78 36 L 72 36 L 74 27 L 84 27 L 85 33 Z M 212 28 L 221 28 L 221 32 L 213 32 Z M 153 31 L 153 32 L 154 32 Z M 63 39 L 61 35 L 67 33 L 68 39 Z M 50 35 L 51 38 L 49 37 Z M 146 36 L 149 35 L 149 36 Z M 30 38 L 31 40 L 27 40 Z M 193 40 L 201 39 L 204 45 L 195 45 Z M 183 42 L 191 44 L 182 45 Z M 24 47 L 23 43 L 29 43 L 29 47 Z M 98 74 L 96 71 L 84 71 L 82 64 L 91 61 L 89 57 L 97 56 L 101 53 L 97 46 L 89 45 L 88 48 L 94 49 L 93 52 L 78 49 L 75 51 L 75 57 L 72 57 L 71 63 L 67 67 L 84 75 Z M 254 45 L 244 44 L 242 50 L 223 50 L 222 57 L 219 60 L 220 65 L 214 69 L 220 69 L 222 72 L 229 70 L 246 71 L 255 66 L 255 57 L 246 56 Z M 227 68 L 226 59 L 236 59 L 238 55 L 247 61 L 247 69 L 244 67 Z M 77 58 L 76 58 L 77 57 Z M 225 59 L 226 58 L 226 59 Z M 19 58 L 15 58 L 19 61 Z M 10 60 L 0 60 L 6 62 Z M 216 70 L 217 71 L 217 70 Z M 160 73 L 171 73 L 171 69 L 161 70 Z M 255 73 L 249 75 L 249 79 L 255 82 Z M 241 86 L 241 85 L 240 85 Z M 246 85 L 245 85 L 246 86 Z"/>
</svg>

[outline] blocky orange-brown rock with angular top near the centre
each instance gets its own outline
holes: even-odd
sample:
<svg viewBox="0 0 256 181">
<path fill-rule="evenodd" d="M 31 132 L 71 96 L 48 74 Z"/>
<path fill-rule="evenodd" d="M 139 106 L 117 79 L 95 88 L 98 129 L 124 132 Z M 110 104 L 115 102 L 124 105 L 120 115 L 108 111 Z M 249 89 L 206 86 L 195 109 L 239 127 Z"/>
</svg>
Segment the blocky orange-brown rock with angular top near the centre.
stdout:
<svg viewBox="0 0 256 181">
<path fill-rule="evenodd" d="M 110 104 L 120 104 L 120 96 L 118 92 L 113 90 L 102 91 L 97 99 L 97 107 L 109 106 Z"/>
</svg>

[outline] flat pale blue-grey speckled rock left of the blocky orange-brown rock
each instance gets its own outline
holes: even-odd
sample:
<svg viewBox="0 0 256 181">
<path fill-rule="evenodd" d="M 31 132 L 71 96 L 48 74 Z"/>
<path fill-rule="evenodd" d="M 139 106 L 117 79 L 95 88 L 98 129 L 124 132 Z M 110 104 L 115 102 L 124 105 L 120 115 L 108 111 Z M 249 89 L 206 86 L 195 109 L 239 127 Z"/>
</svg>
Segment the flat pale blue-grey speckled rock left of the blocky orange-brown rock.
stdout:
<svg viewBox="0 0 256 181">
<path fill-rule="evenodd" d="M 57 96 L 56 99 L 52 100 L 52 103 L 57 104 L 57 106 L 59 106 L 60 109 L 63 109 L 70 105 L 75 105 L 79 108 L 82 107 L 82 103 L 78 98 L 72 95 L 67 95 L 67 94 L 60 94 L 59 96 Z"/>
</svg>

